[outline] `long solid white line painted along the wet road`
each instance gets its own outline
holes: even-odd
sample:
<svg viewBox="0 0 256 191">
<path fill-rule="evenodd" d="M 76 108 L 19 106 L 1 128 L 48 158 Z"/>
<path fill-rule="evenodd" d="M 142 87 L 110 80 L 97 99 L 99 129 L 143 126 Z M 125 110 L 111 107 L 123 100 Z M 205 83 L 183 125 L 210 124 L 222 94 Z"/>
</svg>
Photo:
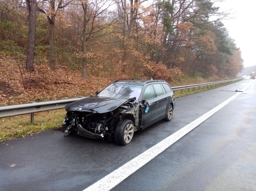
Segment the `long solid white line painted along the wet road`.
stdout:
<svg viewBox="0 0 256 191">
<path fill-rule="evenodd" d="M 250 83 L 242 89 L 244 91 L 249 87 Z M 176 131 L 174 134 L 170 135 L 166 139 L 162 140 L 155 146 L 152 146 L 150 149 L 146 150 L 144 153 L 141 153 L 137 157 L 133 158 L 129 162 L 125 163 L 123 166 L 119 167 L 115 171 L 111 172 L 107 176 L 103 177 L 101 180 L 95 182 L 93 185 L 89 186 L 83 191 L 109 191 L 122 182 L 125 178 L 130 176 L 132 173 L 137 171 L 139 168 L 144 166 L 150 160 L 155 158 L 158 154 L 162 153 L 165 149 L 175 143 L 177 140 L 181 139 L 184 135 L 189 133 L 195 127 L 200 125 L 202 122 L 207 120 L 211 117 L 214 113 L 219 111 L 222 107 L 236 98 L 240 93 L 238 92 L 226 101 L 222 102 L 219 106 L 213 108 L 211 111 L 205 113 L 201 117 L 197 118 L 195 121 L 191 122 L 190 124 L 186 125 L 182 129 Z"/>
</svg>

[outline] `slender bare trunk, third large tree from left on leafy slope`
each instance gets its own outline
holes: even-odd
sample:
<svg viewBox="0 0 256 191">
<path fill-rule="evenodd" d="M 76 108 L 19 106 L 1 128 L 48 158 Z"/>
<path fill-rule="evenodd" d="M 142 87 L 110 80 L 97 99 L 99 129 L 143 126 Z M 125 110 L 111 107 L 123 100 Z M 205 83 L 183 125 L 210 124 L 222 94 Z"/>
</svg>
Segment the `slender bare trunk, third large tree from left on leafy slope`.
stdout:
<svg viewBox="0 0 256 191">
<path fill-rule="evenodd" d="M 83 23 L 83 42 L 82 42 L 82 48 L 83 48 L 83 68 L 82 68 L 82 75 L 83 79 L 87 78 L 86 74 L 86 25 L 87 25 L 87 3 L 82 3 L 83 10 L 84 10 L 84 23 Z"/>
</svg>

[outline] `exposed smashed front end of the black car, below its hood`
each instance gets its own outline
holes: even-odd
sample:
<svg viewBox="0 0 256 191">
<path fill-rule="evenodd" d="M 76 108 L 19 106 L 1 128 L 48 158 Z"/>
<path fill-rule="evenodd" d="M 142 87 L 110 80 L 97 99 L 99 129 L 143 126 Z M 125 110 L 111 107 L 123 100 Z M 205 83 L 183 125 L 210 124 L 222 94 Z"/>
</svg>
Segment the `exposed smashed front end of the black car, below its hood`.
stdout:
<svg viewBox="0 0 256 191">
<path fill-rule="evenodd" d="M 136 111 L 138 105 L 136 104 Z M 88 138 L 95 139 L 112 139 L 115 126 L 119 121 L 129 113 L 136 121 L 134 111 L 134 103 L 127 102 L 120 107 L 106 113 L 87 112 L 87 111 L 70 111 L 67 112 L 63 127 L 65 128 L 64 134 L 75 133 Z M 136 121 L 135 124 L 138 122 Z"/>
</svg>

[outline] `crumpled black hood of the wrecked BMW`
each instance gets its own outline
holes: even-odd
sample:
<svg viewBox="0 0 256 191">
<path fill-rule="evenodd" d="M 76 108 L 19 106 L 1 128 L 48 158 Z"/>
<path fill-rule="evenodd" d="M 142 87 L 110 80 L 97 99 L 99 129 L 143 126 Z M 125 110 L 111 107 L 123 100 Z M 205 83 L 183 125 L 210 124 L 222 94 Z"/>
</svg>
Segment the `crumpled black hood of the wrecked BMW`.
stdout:
<svg viewBox="0 0 256 191">
<path fill-rule="evenodd" d="M 115 110 L 122 104 L 134 101 L 134 98 L 106 98 L 106 97 L 87 97 L 78 101 L 69 103 L 65 110 L 69 111 L 87 111 L 92 113 L 106 113 Z"/>
</svg>

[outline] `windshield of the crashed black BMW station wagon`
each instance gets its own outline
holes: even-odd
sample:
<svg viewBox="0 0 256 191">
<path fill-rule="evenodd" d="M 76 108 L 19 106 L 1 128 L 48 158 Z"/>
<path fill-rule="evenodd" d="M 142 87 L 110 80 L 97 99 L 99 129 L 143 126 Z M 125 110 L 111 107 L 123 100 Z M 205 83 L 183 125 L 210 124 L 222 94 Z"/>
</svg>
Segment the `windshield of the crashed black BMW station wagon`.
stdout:
<svg viewBox="0 0 256 191">
<path fill-rule="evenodd" d="M 138 99 L 142 86 L 131 84 L 110 84 L 100 93 L 98 97 L 108 98 L 134 98 Z"/>
</svg>

